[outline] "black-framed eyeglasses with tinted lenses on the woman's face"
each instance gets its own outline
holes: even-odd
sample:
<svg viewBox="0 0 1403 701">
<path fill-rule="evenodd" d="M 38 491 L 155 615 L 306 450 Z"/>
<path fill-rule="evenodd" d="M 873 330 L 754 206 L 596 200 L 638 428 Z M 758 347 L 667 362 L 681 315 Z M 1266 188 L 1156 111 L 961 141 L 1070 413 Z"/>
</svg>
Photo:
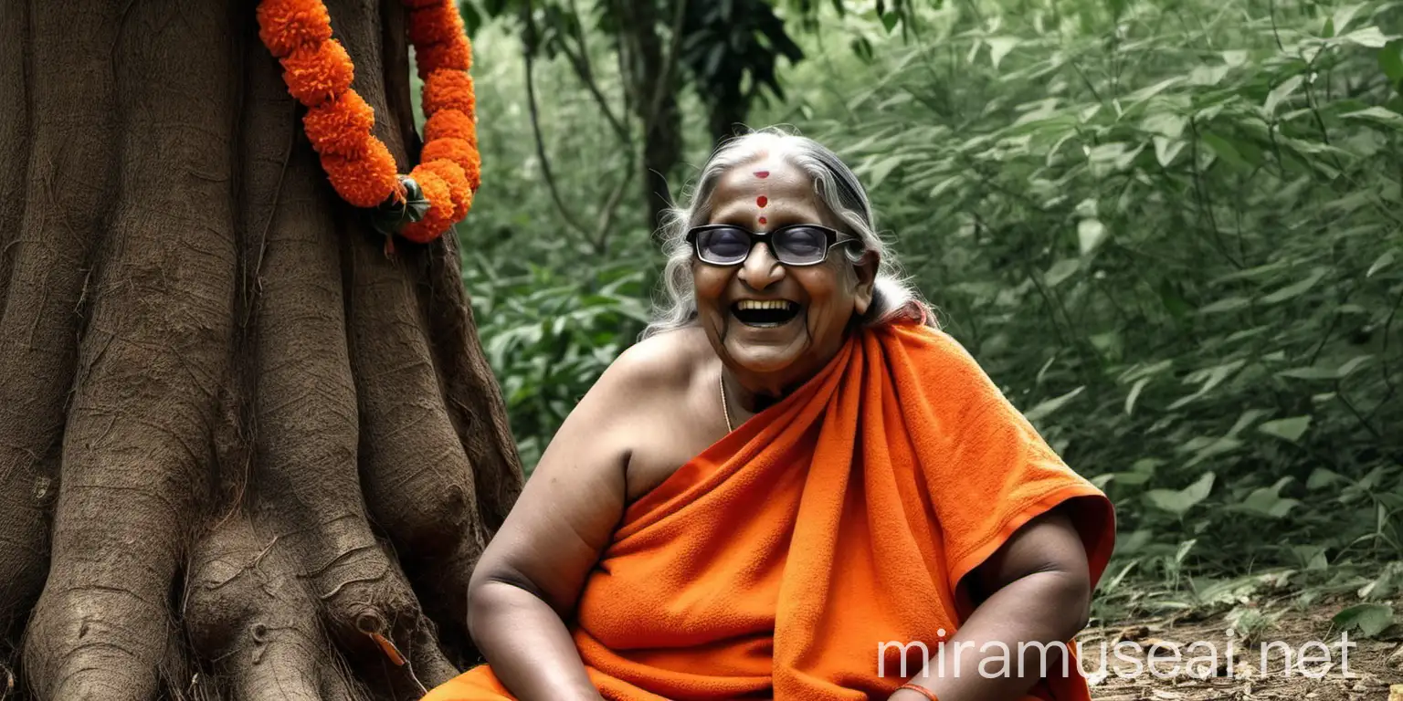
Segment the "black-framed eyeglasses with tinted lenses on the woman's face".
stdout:
<svg viewBox="0 0 1403 701">
<path fill-rule="evenodd" d="M 770 247 L 770 255 L 783 265 L 818 265 L 828 259 L 835 245 L 857 238 L 843 237 L 819 224 L 790 224 L 773 231 L 751 231 L 734 224 L 706 224 L 687 231 L 687 243 L 707 265 L 739 265 L 755 250 L 755 243 Z"/>
</svg>

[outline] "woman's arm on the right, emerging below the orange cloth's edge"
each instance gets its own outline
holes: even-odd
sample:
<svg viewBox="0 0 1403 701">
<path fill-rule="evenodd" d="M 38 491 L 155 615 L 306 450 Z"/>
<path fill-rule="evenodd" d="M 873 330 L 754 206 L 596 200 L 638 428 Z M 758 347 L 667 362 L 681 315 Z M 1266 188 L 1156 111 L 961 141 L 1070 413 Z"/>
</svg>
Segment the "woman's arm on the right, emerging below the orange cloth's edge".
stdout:
<svg viewBox="0 0 1403 701">
<path fill-rule="evenodd" d="M 1086 625 L 1092 585 L 1082 537 L 1065 513 L 1052 510 L 1019 529 L 971 582 L 988 597 L 932 649 L 926 674 L 912 683 L 940 701 L 1014 701 L 1063 666 L 1078 673 L 1062 645 Z M 891 701 L 923 698 L 904 690 Z"/>
</svg>

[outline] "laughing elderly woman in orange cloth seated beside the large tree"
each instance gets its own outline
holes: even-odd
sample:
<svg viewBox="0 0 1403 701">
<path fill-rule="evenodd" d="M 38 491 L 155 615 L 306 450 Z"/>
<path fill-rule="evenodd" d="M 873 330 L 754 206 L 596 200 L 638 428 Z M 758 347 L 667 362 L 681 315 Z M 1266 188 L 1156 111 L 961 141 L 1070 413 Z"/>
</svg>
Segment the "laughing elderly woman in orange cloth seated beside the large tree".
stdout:
<svg viewBox="0 0 1403 701">
<path fill-rule="evenodd" d="M 853 172 L 725 143 L 666 304 L 473 573 L 487 665 L 428 701 L 1087 700 L 1114 513 L 936 329 Z"/>
</svg>

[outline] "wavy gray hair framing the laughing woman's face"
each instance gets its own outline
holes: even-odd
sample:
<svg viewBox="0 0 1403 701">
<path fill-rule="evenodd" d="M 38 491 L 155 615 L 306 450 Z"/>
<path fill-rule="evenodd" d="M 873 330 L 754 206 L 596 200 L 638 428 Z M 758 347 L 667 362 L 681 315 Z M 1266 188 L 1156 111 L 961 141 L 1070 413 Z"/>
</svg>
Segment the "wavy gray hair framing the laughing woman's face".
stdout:
<svg viewBox="0 0 1403 701">
<path fill-rule="evenodd" d="M 846 224 L 847 233 L 861 241 L 861 250 L 843 248 L 849 261 L 856 264 L 864 252 L 877 257 L 873 301 L 859 321 L 863 325 L 877 325 L 897 318 L 918 318 L 934 324 L 934 313 L 902 278 L 894 255 L 878 237 L 867 192 L 852 168 L 812 139 L 767 128 L 723 143 L 702 167 L 690 203 L 666 213 L 662 251 L 668 262 L 662 271 L 662 297 L 654 304 L 652 322 L 641 338 L 683 328 L 696 320 L 687 230 L 704 224 L 711 216 L 711 193 L 717 181 L 731 168 L 752 163 L 766 151 L 803 170 L 814 181 L 814 189 L 824 205 Z"/>
</svg>

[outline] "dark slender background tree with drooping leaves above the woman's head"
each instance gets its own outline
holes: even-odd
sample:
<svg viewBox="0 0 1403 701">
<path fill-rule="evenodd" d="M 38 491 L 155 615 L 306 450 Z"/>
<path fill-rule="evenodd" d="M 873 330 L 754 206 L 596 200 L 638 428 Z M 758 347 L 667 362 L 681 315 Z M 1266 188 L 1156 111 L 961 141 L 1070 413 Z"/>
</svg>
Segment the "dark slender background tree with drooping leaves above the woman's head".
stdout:
<svg viewBox="0 0 1403 701">
<path fill-rule="evenodd" d="M 476 4 L 464 4 L 469 25 L 478 24 Z M 521 21 L 526 56 L 526 90 L 537 144 L 542 143 L 535 91 L 535 59 L 564 56 L 581 86 L 610 125 L 619 147 L 636 167 L 619 181 L 596 227 L 575 216 L 581 203 L 564 202 L 554 182 L 549 154 L 539 149 L 546 185 L 570 227 L 603 248 L 613 223 L 617 193 L 641 181 L 645 224 L 657 227 L 673 205 L 672 178 L 685 153 L 679 98 L 689 86 L 707 109 L 713 142 L 745 123 L 751 105 L 765 90 L 783 98 L 776 79 L 780 56 L 790 62 L 803 52 L 788 38 L 769 0 L 483 0 L 488 15 Z M 805 8 L 812 13 L 812 8 Z M 607 41 L 619 66 L 620 95 L 610 97 L 591 52 L 591 35 Z"/>
</svg>

